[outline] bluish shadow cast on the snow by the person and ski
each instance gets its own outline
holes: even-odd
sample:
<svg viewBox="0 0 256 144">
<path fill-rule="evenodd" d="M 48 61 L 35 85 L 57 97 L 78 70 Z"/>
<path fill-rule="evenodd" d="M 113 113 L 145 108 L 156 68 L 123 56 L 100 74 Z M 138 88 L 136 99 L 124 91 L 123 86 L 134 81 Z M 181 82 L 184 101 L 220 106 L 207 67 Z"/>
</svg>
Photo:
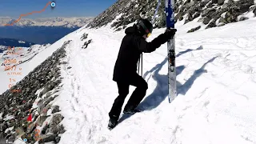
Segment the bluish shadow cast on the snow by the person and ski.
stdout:
<svg viewBox="0 0 256 144">
<path fill-rule="evenodd" d="M 186 50 L 187 52 L 191 51 Z M 185 54 L 185 53 L 182 53 Z M 181 53 L 178 54 L 180 56 Z M 204 70 L 205 66 L 213 62 L 214 58 L 211 58 L 208 62 L 202 65 L 202 67 L 198 70 L 194 71 L 194 74 L 182 85 L 180 82 L 176 81 L 177 83 L 177 93 L 185 95 L 188 90 L 190 90 L 191 86 L 193 85 L 196 78 L 198 78 L 201 74 L 206 73 L 207 70 Z M 168 96 L 168 75 L 166 74 L 159 74 L 159 71 L 162 69 L 162 66 L 164 66 L 167 62 L 167 58 L 164 59 L 160 64 L 154 66 L 150 71 L 147 71 L 146 74 L 149 74 L 150 72 L 154 72 L 152 75 L 153 79 L 157 82 L 157 86 L 154 89 L 154 91 L 148 95 L 139 105 L 138 109 L 140 110 L 153 110 L 154 108 L 158 107 Z M 185 66 L 178 66 L 176 68 L 176 74 L 181 74 L 182 70 L 185 69 Z M 144 78 L 146 77 L 146 74 L 144 74 Z M 126 118 L 130 118 L 131 115 L 129 114 L 123 114 L 122 117 L 119 119 L 119 123 L 124 121 Z"/>
</svg>

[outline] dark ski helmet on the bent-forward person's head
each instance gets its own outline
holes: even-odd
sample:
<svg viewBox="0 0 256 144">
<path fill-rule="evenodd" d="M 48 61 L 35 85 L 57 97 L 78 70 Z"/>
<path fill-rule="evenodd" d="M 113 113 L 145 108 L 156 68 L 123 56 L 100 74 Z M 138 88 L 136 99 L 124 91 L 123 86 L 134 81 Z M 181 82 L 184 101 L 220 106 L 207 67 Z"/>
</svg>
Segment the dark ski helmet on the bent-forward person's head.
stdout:
<svg viewBox="0 0 256 144">
<path fill-rule="evenodd" d="M 147 19 L 139 19 L 137 24 L 138 32 L 142 35 L 146 34 L 148 38 L 153 31 L 153 25 Z"/>
</svg>

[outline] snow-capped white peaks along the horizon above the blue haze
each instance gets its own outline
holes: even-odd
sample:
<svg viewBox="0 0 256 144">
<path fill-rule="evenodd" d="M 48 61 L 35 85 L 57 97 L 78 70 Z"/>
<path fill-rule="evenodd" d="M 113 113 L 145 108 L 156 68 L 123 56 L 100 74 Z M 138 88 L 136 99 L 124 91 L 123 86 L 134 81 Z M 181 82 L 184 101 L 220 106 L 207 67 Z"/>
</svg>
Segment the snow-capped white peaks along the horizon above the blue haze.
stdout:
<svg viewBox="0 0 256 144">
<path fill-rule="evenodd" d="M 15 21 L 16 19 L 10 17 L 0 17 L 0 26 Z M 88 22 L 91 22 L 92 17 L 85 18 L 22 18 L 14 26 L 66 26 L 66 27 L 82 27 Z"/>
</svg>

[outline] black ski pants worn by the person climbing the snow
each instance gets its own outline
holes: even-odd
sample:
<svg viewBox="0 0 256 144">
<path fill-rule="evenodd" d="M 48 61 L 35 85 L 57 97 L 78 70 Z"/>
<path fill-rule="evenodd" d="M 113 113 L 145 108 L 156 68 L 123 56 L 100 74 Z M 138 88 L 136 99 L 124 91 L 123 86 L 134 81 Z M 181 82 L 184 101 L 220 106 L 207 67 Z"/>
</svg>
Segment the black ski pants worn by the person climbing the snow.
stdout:
<svg viewBox="0 0 256 144">
<path fill-rule="evenodd" d="M 115 98 L 113 106 L 110 110 L 110 118 L 119 118 L 122 110 L 122 105 L 125 102 L 126 96 L 129 94 L 129 86 L 136 86 L 133 94 L 131 94 L 124 110 L 134 109 L 142 101 L 146 95 L 146 90 L 148 89 L 146 81 L 139 76 L 134 74 L 132 78 L 127 82 L 117 82 L 118 84 L 118 98 Z"/>
</svg>

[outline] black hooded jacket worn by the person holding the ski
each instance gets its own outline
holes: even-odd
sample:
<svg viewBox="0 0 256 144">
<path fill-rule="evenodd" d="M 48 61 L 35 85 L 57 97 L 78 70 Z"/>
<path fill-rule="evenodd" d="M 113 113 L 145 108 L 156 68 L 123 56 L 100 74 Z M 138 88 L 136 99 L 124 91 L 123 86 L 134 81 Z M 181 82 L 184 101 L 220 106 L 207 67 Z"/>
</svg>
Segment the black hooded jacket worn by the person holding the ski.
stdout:
<svg viewBox="0 0 256 144">
<path fill-rule="evenodd" d="M 137 63 L 140 54 L 151 53 L 167 42 L 165 34 L 160 34 L 152 42 L 138 34 L 135 26 L 126 29 L 126 36 L 122 39 L 122 44 L 118 53 L 117 61 L 114 66 L 113 80 L 115 82 L 128 82 L 130 78 L 137 74 Z"/>
</svg>

